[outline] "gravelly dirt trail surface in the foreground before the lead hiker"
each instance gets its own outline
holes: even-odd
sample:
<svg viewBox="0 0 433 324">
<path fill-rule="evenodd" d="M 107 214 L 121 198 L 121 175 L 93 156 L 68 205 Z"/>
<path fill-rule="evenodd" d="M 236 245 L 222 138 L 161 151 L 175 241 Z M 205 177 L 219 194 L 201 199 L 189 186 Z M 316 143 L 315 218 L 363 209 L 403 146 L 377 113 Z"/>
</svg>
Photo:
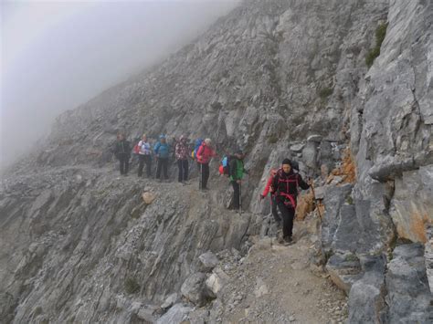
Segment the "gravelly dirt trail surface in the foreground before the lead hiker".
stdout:
<svg viewBox="0 0 433 324">
<path fill-rule="evenodd" d="M 248 256 L 234 249 L 217 254 L 221 262 L 216 272 L 227 275 L 227 284 L 209 309 L 211 322 L 337 324 L 347 319 L 343 292 L 311 266 L 314 235 L 306 234 L 304 222 L 295 226 L 304 236 L 294 245 L 250 237 L 254 245 Z M 191 322 L 200 322 L 193 314 Z"/>
</svg>

